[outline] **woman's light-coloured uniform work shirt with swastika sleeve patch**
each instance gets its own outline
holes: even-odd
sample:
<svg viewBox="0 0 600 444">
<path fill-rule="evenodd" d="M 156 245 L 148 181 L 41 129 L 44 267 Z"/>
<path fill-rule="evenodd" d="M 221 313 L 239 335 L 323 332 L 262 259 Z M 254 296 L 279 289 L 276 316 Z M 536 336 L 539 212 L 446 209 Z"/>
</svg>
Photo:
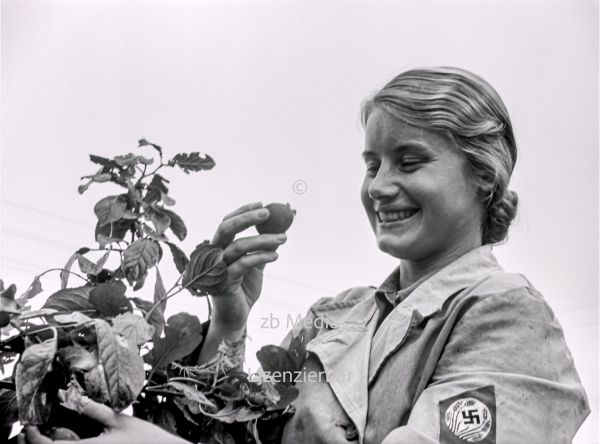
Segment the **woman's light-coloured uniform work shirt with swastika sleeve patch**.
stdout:
<svg viewBox="0 0 600 444">
<path fill-rule="evenodd" d="M 399 273 L 320 299 L 288 333 L 309 353 L 281 444 L 571 442 L 588 400 L 527 279 L 488 245 L 404 290 Z"/>
</svg>

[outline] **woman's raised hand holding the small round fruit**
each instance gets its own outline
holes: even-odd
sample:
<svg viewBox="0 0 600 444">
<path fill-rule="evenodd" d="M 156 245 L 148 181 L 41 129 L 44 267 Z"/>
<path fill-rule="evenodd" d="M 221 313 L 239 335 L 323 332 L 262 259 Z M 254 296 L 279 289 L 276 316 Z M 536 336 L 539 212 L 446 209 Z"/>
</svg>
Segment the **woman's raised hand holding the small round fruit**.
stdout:
<svg viewBox="0 0 600 444">
<path fill-rule="evenodd" d="M 228 265 L 227 286 L 218 296 L 211 297 L 213 322 L 239 330 L 262 290 L 263 270 L 278 255 L 277 247 L 287 240 L 285 233 L 259 234 L 235 239 L 236 234 L 269 218 L 262 203 L 244 205 L 223 218 L 212 243 L 223 248 L 223 260 Z"/>
</svg>

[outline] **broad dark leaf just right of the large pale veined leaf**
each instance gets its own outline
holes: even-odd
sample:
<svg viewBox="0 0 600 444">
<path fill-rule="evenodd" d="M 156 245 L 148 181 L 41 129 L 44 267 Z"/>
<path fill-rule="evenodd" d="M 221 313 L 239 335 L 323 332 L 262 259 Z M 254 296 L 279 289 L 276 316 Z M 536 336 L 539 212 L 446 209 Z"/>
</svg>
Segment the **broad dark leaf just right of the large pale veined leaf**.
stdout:
<svg viewBox="0 0 600 444">
<path fill-rule="evenodd" d="M 178 313 L 167 320 L 165 337 L 154 339 L 154 348 L 144 360 L 155 368 L 189 355 L 202 342 L 202 325 L 196 316 Z"/>
</svg>

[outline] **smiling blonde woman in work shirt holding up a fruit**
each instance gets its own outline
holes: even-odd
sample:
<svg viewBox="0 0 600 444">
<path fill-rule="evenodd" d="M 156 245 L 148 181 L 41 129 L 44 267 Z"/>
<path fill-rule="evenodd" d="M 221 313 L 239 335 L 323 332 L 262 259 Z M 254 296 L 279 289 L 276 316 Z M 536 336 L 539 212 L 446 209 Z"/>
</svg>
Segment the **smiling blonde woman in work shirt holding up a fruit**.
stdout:
<svg viewBox="0 0 600 444">
<path fill-rule="evenodd" d="M 278 441 L 571 442 L 589 408 L 561 328 L 531 283 L 491 252 L 517 208 L 507 188 L 517 149 L 502 100 L 465 70 L 417 69 L 367 100 L 362 121 L 361 199 L 379 248 L 400 262 L 377 288 L 317 301 L 289 332 L 282 345 L 302 333 L 310 353 Z M 215 234 L 230 282 L 213 299 L 200 362 L 222 340 L 243 344 L 262 271 L 286 237 L 236 235 L 267 216 L 260 203 L 246 205 Z M 323 371 L 327 381 L 308 377 Z M 154 426 L 90 409 L 110 421 L 90 442 L 167 442 Z"/>
</svg>

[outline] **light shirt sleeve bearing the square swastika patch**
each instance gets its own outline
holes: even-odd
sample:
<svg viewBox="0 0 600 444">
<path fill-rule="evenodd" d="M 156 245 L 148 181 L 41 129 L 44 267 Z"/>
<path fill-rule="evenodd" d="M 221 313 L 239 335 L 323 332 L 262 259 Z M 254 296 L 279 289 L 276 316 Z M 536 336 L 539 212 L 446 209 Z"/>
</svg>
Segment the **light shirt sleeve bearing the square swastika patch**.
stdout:
<svg viewBox="0 0 600 444">
<path fill-rule="evenodd" d="M 570 443 L 589 411 L 560 325 L 523 287 L 471 305 L 407 424 L 382 444 Z"/>
</svg>

